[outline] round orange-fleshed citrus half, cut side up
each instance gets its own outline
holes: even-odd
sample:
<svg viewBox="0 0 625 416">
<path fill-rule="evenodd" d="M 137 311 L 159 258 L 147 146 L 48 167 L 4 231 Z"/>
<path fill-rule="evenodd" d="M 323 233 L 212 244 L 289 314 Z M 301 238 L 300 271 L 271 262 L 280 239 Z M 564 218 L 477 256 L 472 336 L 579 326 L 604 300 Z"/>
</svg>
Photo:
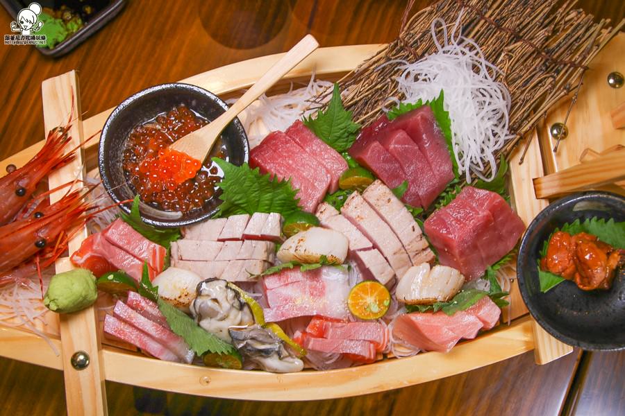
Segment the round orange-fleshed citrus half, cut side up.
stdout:
<svg viewBox="0 0 625 416">
<path fill-rule="evenodd" d="M 356 318 L 373 320 L 384 316 L 390 300 L 386 286 L 377 281 L 365 280 L 349 291 L 347 308 Z"/>
</svg>

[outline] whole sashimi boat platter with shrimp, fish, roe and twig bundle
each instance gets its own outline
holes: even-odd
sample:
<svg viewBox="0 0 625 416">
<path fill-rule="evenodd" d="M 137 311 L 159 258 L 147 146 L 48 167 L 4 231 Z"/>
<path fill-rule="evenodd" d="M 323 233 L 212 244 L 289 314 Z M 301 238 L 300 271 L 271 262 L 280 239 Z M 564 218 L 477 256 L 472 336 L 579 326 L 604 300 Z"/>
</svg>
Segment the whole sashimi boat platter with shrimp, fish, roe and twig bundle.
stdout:
<svg viewBox="0 0 625 416">
<path fill-rule="evenodd" d="M 216 117 L 195 101 L 109 148 L 132 106 L 82 121 L 75 73 L 46 81 L 47 139 L 2 165 L 0 353 L 98 402 L 103 379 L 321 399 L 569 352 L 515 281 L 549 203 L 535 127 L 622 24 L 550 0 L 407 17 L 390 44 L 317 49 L 240 112 L 243 150 L 230 126 L 203 160 L 174 150 Z M 280 58 L 182 83 L 233 105 Z"/>
</svg>

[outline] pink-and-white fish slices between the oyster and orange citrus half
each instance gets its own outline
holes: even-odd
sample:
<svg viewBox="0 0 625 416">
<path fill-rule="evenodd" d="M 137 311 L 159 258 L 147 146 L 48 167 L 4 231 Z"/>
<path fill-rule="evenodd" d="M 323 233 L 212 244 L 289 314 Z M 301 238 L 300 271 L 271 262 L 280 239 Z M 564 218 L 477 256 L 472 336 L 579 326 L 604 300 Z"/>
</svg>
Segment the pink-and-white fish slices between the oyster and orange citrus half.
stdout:
<svg viewBox="0 0 625 416">
<path fill-rule="evenodd" d="M 269 305 L 269 308 L 265 309 L 267 322 L 313 315 L 336 319 L 349 317 L 347 310 L 349 285 L 346 271 L 325 266 L 300 273 L 301 280 L 273 289 L 267 289 L 265 281 L 265 299 Z"/>
</svg>

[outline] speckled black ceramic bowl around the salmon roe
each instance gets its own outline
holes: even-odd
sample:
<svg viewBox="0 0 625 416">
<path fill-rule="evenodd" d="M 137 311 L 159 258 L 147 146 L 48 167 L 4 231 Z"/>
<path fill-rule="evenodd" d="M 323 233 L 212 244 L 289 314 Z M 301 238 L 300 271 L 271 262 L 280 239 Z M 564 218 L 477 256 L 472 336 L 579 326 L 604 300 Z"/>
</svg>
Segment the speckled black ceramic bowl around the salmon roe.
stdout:
<svg viewBox="0 0 625 416">
<path fill-rule="evenodd" d="M 208 121 L 216 119 L 228 109 L 228 105 L 215 94 L 194 85 L 172 83 L 156 85 L 126 98 L 110 114 L 102 129 L 98 149 L 98 165 L 104 188 L 115 202 L 132 199 L 134 192 L 126 182 L 122 169 L 122 153 L 126 141 L 138 125 L 153 119 L 157 114 L 168 112 L 177 105 L 186 105 Z M 242 165 L 249 159 L 247 135 L 239 119 L 222 132 L 222 142 L 226 147 L 228 162 Z M 188 213 L 163 211 L 151 205 L 140 205 L 144 222 L 155 227 L 181 227 L 209 218 L 221 202 L 215 193 L 203 209 L 194 209 Z M 131 205 L 124 204 L 122 209 L 130 212 Z"/>
</svg>

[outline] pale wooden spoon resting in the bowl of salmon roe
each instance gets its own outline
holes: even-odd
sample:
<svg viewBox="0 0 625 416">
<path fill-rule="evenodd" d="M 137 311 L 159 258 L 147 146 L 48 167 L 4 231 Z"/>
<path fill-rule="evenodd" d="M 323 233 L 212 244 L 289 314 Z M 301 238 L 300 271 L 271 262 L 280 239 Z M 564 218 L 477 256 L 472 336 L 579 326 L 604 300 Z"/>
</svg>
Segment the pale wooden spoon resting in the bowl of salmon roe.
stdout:
<svg viewBox="0 0 625 416">
<path fill-rule="evenodd" d="M 299 64 L 303 58 L 306 58 L 310 53 L 315 51 L 317 47 L 319 47 L 319 43 L 315 40 L 313 35 L 303 37 L 303 39 L 297 42 L 297 44 L 293 46 L 281 60 L 276 62 L 265 75 L 260 77 L 256 84 L 252 85 L 236 103 L 228 108 L 224 114 L 210 121 L 210 123 L 203 128 L 195 130 L 185 137 L 174 141 L 169 147 L 178 150 L 178 152 L 186 153 L 194 159 L 203 161 L 206 155 L 210 153 L 210 149 L 213 148 L 217 137 L 219 137 L 222 130 L 226 128 L 226 125 L 233 121 L 248 105 L 256 101 L 256 98 L 285 76 L 288 71 Z"/>
</svg>

